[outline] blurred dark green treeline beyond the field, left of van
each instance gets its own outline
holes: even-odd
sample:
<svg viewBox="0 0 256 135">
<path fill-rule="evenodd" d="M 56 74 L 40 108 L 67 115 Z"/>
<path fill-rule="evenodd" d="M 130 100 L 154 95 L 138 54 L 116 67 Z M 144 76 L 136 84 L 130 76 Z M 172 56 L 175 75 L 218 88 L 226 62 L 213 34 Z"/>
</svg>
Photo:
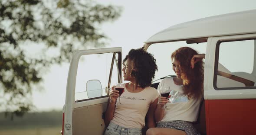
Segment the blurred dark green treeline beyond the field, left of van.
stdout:
<svg viewBox="0 0 256 135">
<path fill-rule="evenodd" d="M 22 117 L 0 113 L 0 129 L 62 126 L 62 111 L 26 113 Z"/>
</svg>

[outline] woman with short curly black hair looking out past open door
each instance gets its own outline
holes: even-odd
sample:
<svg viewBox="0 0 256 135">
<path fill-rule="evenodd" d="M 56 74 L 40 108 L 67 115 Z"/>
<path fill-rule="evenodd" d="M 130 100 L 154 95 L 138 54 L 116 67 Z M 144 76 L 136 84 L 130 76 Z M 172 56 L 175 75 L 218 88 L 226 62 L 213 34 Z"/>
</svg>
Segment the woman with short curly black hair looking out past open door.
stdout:
<svg viewBox="0 0 256 135">
<path fill-rule="evenodd" d="M 129 83 L 117 100 L 118 90 L 112 87 L 105 113 L 108 125 L 105 135 L 141 135 L 147 114 L 148 128 L 155 127 L 154 110 L 158 103 L 158 91 L 150 87 L 158 67 L 153 55 L 143 48 L 131 49 L 123 60 L 123 77 Z"/>
</svg>

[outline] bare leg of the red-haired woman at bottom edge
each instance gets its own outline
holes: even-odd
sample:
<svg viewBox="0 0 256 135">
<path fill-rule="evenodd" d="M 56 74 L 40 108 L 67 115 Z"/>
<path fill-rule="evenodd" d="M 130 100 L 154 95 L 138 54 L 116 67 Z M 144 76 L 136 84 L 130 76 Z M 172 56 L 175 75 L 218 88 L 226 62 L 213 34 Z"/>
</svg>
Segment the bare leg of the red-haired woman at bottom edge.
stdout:
<svg viewBox="0 0 256 135">
<path fill-rule="evenodd" d="M 150 128 L 146 135 L 187 135 L 186 132 L 169 128 Z"/>
</svg>

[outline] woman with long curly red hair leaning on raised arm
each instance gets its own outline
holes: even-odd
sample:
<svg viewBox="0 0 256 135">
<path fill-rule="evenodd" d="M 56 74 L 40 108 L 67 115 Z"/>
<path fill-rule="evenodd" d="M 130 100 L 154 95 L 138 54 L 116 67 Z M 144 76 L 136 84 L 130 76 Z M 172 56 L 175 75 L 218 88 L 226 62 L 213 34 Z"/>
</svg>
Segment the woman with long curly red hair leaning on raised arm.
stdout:
<svg viewBox="0 0 256 135">
<path fill-rule="evenodd" d="M 172 53 L 172 69 L 176 77 L 162 80 L 158 91 L 161 86 L 167 86 L 178 91 L 180 96 L 171 103 L 166 97 L 159 96 L 154 115 L 157 128 L 148 129 L 147 135 L 200 135 L 191 123 L 197 121 L 203 98 L 203 61 L 194 60 L 197 55 L 197 51 L 189 47 Z M 162 109 L 164 104 L 167 109 Z"/>
</svg>

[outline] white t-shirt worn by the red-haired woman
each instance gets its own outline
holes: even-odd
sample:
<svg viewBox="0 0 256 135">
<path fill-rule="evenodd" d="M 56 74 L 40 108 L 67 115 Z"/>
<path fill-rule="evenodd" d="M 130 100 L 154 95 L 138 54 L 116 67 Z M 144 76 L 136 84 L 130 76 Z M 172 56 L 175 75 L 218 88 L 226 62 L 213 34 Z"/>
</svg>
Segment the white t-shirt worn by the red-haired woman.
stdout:
<svg viewBox="0 0 256 135">
<path fill-rule="evenodd" d="M 174 84 L 173 78 L 165 78 L 158 85 L 158 92 L 160 93 L 161 86 L 169 86 L 171 90 L 176 90 L 182 93 L 182 85 Z M 167 122 L 173 120 L 182 120 L 187 122 L 197 121 L 200 102 L 202 97 L 198 99 L 188 100 L 187 96 L 180 96 L 174 100 L 173 103 L 167 103 L 167 108 L 164 111 L 164 117 L 159 122 Z"/>
</svg>

